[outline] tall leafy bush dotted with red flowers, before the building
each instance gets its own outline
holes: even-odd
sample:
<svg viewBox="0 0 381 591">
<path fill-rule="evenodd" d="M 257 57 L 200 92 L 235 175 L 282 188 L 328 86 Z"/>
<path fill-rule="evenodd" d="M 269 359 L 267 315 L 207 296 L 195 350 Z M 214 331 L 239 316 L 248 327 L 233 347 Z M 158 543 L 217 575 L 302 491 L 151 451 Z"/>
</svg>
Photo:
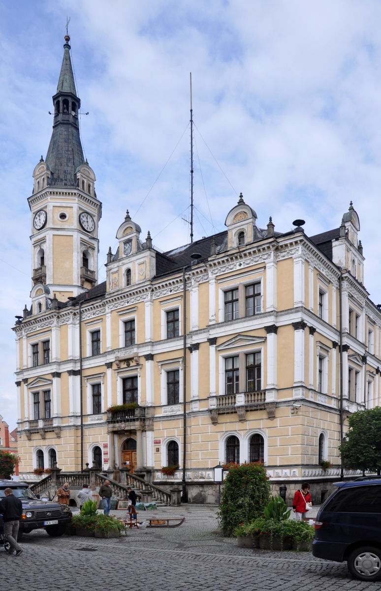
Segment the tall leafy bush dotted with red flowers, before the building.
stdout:
<svg viewBox="0 0 381 591">
<path fill-rule="evenodd" d="M 240 524 L 263 515 L 270 500 L 270 483 L 263 464 L 229 465 L 219 510 L 220 529 L 232 535 Z"/>
</svg>

